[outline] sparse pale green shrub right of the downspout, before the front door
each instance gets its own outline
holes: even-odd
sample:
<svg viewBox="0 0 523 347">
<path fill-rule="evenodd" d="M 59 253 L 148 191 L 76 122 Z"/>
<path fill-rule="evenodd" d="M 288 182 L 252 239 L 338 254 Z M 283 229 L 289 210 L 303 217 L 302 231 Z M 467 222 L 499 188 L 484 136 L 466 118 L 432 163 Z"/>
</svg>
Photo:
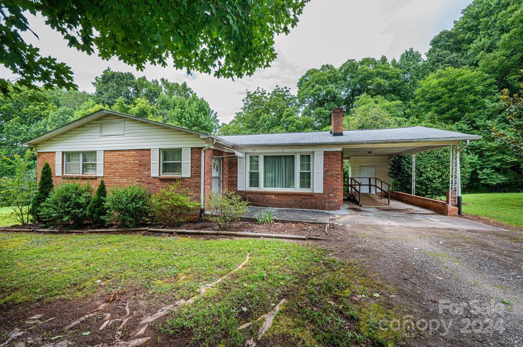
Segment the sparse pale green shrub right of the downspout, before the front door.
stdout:
<svg viewBox="0 0 523 347">
<path fill-rule="evenodd" d="M 207 219 L 218 223 L 221 229 L 228 228 L 232 222 L 239 221 L 248 211 L 249 203 L 232 190 L 224 190 L 222 194 L 212 193 L 207 199 L 207 209 L 210 215 Z"/>
</svg>

